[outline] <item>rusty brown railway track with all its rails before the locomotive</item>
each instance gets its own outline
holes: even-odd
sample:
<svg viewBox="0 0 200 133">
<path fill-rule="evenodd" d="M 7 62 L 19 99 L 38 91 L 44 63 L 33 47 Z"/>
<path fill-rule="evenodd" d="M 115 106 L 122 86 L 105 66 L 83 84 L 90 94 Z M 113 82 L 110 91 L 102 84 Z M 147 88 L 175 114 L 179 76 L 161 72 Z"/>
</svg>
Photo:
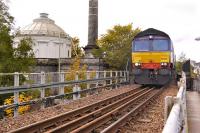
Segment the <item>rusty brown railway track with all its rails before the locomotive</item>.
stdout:
<svg viewBox="0 0 200 133">
<path fill-rule="evenodd" d="M 136 114 L 161 89 L 136 88 L 94 104 L 11 131 L 12 133 L 115 132 L 129 115 Z M 128 115 L 129 114 L 129 115 Z M 122 121 L 122 122 L 120 122 Z"/>
</svg>

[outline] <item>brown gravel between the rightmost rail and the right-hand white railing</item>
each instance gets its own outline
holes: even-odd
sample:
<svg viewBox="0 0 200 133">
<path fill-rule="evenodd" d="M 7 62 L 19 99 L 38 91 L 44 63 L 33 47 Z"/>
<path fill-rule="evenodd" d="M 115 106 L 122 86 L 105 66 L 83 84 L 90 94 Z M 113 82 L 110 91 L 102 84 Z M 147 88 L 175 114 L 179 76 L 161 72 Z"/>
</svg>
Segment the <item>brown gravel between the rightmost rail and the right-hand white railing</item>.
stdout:
<svg viewBox="0 0 200 133">
<path fill-rule="evenodd" d="M 144 111 L 121 128 L 122 133 L 161 133 L 164 128 L 164 99 L 176 96 L 178 88 L 170 85 Z"/>
</svg>

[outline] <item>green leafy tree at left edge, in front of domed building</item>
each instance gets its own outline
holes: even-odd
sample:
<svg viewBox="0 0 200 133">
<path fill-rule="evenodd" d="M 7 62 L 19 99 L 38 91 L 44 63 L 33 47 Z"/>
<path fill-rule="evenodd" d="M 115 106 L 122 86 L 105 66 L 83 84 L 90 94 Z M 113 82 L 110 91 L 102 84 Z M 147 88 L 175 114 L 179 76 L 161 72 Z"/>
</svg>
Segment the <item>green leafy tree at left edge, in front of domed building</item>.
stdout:
<svg viewBox="0 0 200 133">
<path fill-rule="evenodd" d="M 34 54 L 30 38 L 20 41 L 17 48 L 13 48 L 13 17 L 8 12 L 8 6 L 0 0 L 0 73 L 29 72 L 34 66 Z M 20 77 L 20 83 L 25 80 Z M 0 76 L 0 86 L 13 86 L 13 76 Z M 9 95 L 0 95 L 0 104 Z"/>
</svg>

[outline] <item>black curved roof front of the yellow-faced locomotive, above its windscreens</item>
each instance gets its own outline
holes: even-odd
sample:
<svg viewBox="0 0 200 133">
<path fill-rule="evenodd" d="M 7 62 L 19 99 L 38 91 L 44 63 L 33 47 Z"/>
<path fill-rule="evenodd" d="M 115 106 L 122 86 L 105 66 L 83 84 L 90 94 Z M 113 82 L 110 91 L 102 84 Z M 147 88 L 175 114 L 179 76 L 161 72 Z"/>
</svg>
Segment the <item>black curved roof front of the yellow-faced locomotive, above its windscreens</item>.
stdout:
<svg viewBox="0 0 200 133">
<path fill-rule="evenodd" d="M 146 29 L 140 33 L 138 33 L 135 38 L 137 37 L 144 37 L 144 36 L 149 36 L 149 35 L 159 35 L 159 36 L 163 36 L 163 37 L 167 37 L 167 38 L 170 38 L 168 34 L 166 34 L 165 32 L 163 31 L 160 31 L 160 30 L 156 30 L 154 28 L 149 28 L 149 29 Z"/>
</svg>

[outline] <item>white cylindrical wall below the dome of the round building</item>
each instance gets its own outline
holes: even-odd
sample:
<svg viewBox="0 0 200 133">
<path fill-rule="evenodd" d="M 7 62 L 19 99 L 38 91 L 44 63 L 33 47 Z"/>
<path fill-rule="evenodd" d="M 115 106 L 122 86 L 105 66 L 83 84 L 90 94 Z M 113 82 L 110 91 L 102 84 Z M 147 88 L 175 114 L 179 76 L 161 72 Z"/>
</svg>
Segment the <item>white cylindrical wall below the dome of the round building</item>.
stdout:
<svg viewBox="0 0 200 133">
<path fill-rule="evenodd" d="M 14 47 L 23 37 L 16 37 Z M 67 38 L 32 36 L 35 58 L 71 58 L 71 41 Z M 60 47 L 59 47 L 60 45 Z M 69 52 L 69 55 L 68 55 Z"/>
</svg>

